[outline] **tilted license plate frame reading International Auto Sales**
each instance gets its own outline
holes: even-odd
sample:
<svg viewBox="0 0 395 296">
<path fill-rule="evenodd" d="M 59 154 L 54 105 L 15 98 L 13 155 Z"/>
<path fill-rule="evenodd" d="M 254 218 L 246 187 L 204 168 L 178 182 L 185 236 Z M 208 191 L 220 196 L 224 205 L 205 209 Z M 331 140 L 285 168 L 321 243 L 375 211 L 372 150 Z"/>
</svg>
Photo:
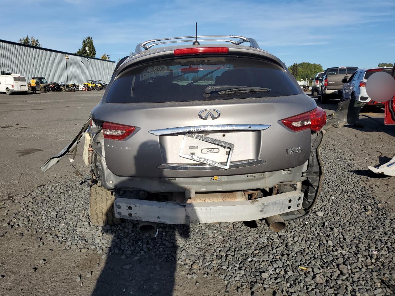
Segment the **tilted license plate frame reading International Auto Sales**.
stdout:
<svg viewBox="0 0 395 296">
<path fill-rule="evenodd" d="M 208 142 L 210 144 L 216 145 L 216 146 L 220 146 L 223 148 L 228 148 L 229 149 L 229 154 L 228 154 L 228 159 L 226 160 L 226 165 L 223 165 L 222 163 L 215 161 L 215 160 L 211 160 L 205 157 L 201 157 L 201 156 L 196 156 L 193 154 L 184 154 L 184 148 L 186 146 L 186 139 L 187 137 L 191 137 L 200 141 L 204 141 L 204 142 Z M 229 169 L 229 165 L 230 165 L 230 159 L 232 157 L 232 153 L 233 153 L 233 149 L 234 149 L 234 145 L 232 143 L 229 142 L 225 142 L 225 141 L 220 141 L 220 140 L 216 140 L 207 136 L 203 136 L 203 135 L 198 135 L 198 134 L 186 134 L 184 135 L 184 139 L 182 140 L 182 144 L 181 144 L 181 150 L 179 155 L 183 158 L 186 159 L 191 159 L 193 161 L 197 161 L 199 163 L 204 163 L 206 165 L 213 165 L 214 167 L 219 167 L 220 169 Z"/>
</svg>

